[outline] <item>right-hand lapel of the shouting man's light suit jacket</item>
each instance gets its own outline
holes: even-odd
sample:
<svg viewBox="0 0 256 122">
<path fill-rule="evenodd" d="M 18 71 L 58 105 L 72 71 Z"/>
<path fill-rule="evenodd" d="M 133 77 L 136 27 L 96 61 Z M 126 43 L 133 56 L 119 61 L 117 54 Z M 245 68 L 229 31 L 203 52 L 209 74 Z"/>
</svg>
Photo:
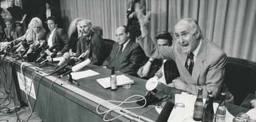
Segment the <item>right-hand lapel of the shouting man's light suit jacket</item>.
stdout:
<svg viewBox="0 0 256 122">
<path fill-rule="evenodd" d="M 206 41 L 204 39 L 201 40 L 201 47 L 199 49 L 199 52 L 197 53 L 196 56 L 196 62 L 193 66 L 193 71 L 192 71 L 192 82 L 196 82 L 199 78 L 199 74 L 201 73 L 201 70 L 203 69 L 203 61 L 205 60 L 205 53 L 206 53 Z"/>
</svg>

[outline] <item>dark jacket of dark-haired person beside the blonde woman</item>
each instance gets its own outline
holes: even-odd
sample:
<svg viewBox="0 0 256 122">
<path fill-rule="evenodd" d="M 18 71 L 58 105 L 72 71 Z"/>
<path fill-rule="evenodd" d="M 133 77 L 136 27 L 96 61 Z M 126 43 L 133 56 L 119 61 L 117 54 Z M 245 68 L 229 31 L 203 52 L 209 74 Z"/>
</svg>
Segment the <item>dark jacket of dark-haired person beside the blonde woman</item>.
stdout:
<svg viewBox="0 0 256 122">
<path fill-rule="evenodd" d="M 46 35 L 46 41 L 48 43 L 50 33 Z M 68 52 L 69 37 L 68 33 L 62 28 L 56 28 L 52 36 L 52 45 L 56 45 L 55 49 L 62 54 Z"/>
</svg>

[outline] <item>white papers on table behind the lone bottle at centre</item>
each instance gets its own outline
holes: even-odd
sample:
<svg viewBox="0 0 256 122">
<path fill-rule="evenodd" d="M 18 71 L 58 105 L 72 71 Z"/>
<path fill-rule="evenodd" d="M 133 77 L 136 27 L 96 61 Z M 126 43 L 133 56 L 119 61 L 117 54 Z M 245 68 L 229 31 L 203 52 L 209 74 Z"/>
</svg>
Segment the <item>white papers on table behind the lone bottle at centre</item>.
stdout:
<svg viewBox="0 0 256 122">
<path fill-rule="evenodd" d="M 105 89 L 111 86 L 110 85 L 110 77 L 97 79 L 97 82 L 100 83 L 100 85 L 102 87 L 104 87 Z M 123 74 L 117 76 L 117 86 L 122 86 L 122 85 L 125 85 L 128 83 L 132 84 L 132 83 L 134 83 L 134 81 L 131 78 L 126 77 Z"/>
</svg>

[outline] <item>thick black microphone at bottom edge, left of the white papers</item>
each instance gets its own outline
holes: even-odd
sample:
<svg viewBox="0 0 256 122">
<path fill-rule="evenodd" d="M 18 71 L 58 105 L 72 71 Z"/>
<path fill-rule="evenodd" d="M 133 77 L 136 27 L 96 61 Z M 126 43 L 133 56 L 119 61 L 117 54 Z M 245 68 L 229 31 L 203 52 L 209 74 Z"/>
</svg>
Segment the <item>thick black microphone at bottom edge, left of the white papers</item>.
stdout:
<svg viewBox="0 0 256 122">
<path fill-rule="evenodd" d="M 160 112 L 158 119 L 156 119 L 156 122 L 167 121 L 173 108 L 174 103 L 167 101 L 166 105 L 164 105 L 163 107 L 163 110 Z"/>
</svg>

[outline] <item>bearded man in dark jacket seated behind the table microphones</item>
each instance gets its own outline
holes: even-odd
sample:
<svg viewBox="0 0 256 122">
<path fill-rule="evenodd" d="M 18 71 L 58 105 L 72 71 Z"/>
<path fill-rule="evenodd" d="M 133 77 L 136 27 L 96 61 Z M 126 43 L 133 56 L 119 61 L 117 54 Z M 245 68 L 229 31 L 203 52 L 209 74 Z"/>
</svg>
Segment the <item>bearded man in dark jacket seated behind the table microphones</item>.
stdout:
<svg viewBox="0 0 256 122">
<path fill-rule="evenodd" d="M 76 57 L 79 57 L 82 53 L 86 53 L 84 58 L 89 58 L 90 64 L 102 65 L 105 56 L 104 40 L 92 31 L 92 22 L 89 19 L 82 19 L 80 21 L 80 28 L 82 35 L 77 42 L 77 51 L 73 53 L 71 50 L 69 53 Z"/>
</svg>

